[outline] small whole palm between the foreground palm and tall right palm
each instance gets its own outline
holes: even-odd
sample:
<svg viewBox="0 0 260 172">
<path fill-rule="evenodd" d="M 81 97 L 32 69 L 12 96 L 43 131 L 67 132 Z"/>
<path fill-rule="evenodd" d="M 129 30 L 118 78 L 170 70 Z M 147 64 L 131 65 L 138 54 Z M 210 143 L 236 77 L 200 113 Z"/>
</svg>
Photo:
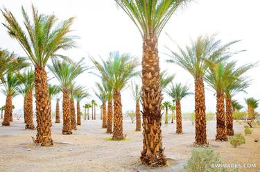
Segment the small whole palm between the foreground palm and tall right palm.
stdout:
<svg viewBox="0 0 260 172">
<path fill-rule="evenodd" d="M 176 133 L 182 133 L 182 110 L 180 101 L 182 98 L 186 97 L 187 95 L 191 95 L 192 93 L 189 92 L 189 86 L 183 85 L 181 83 L 177 83 L 175 85 L 171 84 L 171 88 L 166 90 L 169 96 L 171 96 L 175 100 L 176 106 Z"/>
</svg>

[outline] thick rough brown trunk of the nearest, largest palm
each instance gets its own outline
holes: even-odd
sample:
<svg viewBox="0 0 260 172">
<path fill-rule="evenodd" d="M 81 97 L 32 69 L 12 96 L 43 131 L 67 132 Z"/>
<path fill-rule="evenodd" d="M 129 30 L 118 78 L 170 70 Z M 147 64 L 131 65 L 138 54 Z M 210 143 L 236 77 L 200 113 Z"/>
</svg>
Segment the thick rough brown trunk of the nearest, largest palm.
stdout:
<svg viewBox="0 0 260 172">
<path fill-rule="evenodd" d="M 153 35 L 150 35 L 150 38 L 144 37 L 141 90 L 144 138 L 140 159 L 144 164 L 152 166 L 165 165 L 161 131 L 162 90 L 159 84 L 159 56 L 157 38 Z"/>
</svg>

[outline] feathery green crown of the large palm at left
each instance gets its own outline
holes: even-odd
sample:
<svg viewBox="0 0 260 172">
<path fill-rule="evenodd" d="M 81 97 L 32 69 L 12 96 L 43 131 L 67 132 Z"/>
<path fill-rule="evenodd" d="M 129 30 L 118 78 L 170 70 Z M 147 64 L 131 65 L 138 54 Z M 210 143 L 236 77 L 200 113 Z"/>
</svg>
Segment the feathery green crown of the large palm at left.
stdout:
<svg viewBox="0 0 260 172">
<path fill-rule="evenodd" d="M 23 30 L 12 12 L 6 8 L 1 12 L 6 19 L 3 26 L 7 28 L 10 37 L 17 39 L 34 66 L 44 67 L 50 57 L 62 57 L 55 55 L 58 50 L 76 46 L 76 37 L 69 35 L 73 17 L 56 24 L 58 19 L 55 15 L 40 14 L 35 6 L 32 6 L 33 18 L 30 18 L 24 7 L 21 7 L 26 28 Z"/>
</svg>

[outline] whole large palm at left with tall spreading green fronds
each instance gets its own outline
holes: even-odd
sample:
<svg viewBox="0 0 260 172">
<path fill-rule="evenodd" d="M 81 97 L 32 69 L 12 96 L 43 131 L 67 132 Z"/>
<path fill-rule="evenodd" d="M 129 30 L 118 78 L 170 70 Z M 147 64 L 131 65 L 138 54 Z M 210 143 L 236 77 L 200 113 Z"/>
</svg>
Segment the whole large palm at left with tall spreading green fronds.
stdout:
<svg viewBox="0 0 260 172">
<path fill-rule="evenodd" d="M 50 100 L 45 66 L 50 58 L 66 58 L 58 55 L 58 50 L 67 50 L 75 46 L 75 37 L 68 35 L 71 32 L 73 18 L 55 25 L 58 21 L 55 15 L 39 14 L 34 6 L 32 6 L 32 11 L 33 19 L 30 19 L 24 7 L 21 7 L 26 28 L 24 31 L 12 12 L 6 8 L 1 10 L 6 19 L 6 23 L 3 25 L 6 26 L 8 34 L 17 39 L 35 66 L 37 135 L 36 140 L 33 140 L 42 146 L 50 146 L 53 145 L 53 139 L 51 138 L 51 109 L 49 109 Z"/>
</svg>

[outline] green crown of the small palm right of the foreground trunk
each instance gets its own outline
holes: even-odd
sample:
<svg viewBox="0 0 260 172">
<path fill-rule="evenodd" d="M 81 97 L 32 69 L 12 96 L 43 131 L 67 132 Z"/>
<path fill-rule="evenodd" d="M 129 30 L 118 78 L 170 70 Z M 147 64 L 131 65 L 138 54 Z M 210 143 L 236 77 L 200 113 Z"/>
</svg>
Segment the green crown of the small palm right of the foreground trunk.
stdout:
<svg viewBox="0 0 260 172">
<path fill-rule="evenodd" d="M 193 93 L 189 92 L 189 86 L 177 83 L 171 84 L 171 87 L 166 89 L 166 93 L 172 97 L 175 101 L 180 101 L 183 97 L 191 95 Z"/>
</svg>

